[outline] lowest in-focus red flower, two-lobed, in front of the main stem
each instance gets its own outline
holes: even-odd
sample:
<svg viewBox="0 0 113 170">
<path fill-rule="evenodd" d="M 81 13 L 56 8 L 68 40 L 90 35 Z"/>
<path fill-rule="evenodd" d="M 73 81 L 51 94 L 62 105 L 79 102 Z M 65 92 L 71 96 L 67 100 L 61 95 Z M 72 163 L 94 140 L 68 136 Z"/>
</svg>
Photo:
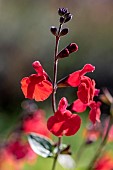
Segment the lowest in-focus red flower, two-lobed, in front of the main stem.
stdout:
<svg viewBox="0 0 113 170">
<path fill-rule="evenodd" d="M 61 137 L 63 135 L 74 135 L 80 128 L 81 119 L 77 114 L 72 114 L 67 110 L 68 102 L 63 97 L 54 116 L 48 119 L 47 127 L 54 135 Z"/>
</svg>

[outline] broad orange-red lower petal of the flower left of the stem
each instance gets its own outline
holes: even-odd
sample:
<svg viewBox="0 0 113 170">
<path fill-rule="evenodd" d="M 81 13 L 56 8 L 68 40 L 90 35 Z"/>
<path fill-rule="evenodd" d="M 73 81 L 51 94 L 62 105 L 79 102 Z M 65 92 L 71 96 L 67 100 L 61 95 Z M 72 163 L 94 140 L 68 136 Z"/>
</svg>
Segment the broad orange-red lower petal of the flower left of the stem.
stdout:
<svg viewBox="0 0 113 170">
<path fill-rule="evenodd" d="M 21 88 L 26 98 L 43 101 L 52 93 L 52 84 L 48 80 L 43 80 L 43 77 L 31 75 L 25 77 L 21 81 Z"/>
</svg>

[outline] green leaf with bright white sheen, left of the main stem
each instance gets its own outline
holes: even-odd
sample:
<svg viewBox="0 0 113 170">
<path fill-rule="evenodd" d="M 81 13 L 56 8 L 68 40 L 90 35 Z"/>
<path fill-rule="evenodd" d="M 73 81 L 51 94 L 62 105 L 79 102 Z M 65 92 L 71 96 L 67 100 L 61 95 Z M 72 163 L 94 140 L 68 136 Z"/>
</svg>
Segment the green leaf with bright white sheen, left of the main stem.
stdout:
<svg viewBox="0 0 113 170">
<path fill-rule="evenodd" d="M 30 133 L 28 135 L 28 141 L 36 154 L 44 158 L 53 156 L 53 142 L 49 138 L 40 134 Z"/>
</svg>

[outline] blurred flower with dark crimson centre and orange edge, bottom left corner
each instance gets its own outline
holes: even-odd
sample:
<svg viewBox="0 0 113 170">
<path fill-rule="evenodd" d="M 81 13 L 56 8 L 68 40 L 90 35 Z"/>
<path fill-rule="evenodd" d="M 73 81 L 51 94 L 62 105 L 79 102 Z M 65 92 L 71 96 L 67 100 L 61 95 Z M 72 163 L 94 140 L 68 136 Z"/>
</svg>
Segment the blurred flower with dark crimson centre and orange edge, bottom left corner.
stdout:
<svg viewBox="0 0 113 170">
<path fill-rule="evenodd" d="M 0 150 L 0 170 L 22 170 L 25 163 L 34 163 L 37 155 L 29 144 L 21 139 L 14 139 Z"/>
</svg>

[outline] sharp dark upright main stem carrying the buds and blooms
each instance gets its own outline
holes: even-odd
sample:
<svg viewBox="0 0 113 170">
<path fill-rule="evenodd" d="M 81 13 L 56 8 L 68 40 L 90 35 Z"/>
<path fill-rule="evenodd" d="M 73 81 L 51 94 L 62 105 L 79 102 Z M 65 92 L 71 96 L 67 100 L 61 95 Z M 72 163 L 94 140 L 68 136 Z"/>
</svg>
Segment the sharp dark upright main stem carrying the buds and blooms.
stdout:
<svg viewBox="0 0 113 170">
<path fill-rule="evenodd" d="M 56 94 L 56 90 L 57 90 L 57 67 L 58 67 L 57 54 L 58 54 L 61 28 L 62 28 L 62 24 L 60 24 L 59 30 L 58 30 L 58 35 L 56 36 L 56 44 L 55 44 L 55 52 L 54 52 L 54 78 L 53 78 L 53 93 L 52 93 L 52 108 L 53 108 L 54 113 L 56 112 L 56 96 L 55 96 L 55 94 Z M 56 167 L 57 158 L 60 153 L 60 144 L 61 144 L 61 138 L 58 138 L 58 145 L 57 145 L 58 151 L 54 157 L 52 170 L 55 170 L 55 167 Z"/>
</svg>

